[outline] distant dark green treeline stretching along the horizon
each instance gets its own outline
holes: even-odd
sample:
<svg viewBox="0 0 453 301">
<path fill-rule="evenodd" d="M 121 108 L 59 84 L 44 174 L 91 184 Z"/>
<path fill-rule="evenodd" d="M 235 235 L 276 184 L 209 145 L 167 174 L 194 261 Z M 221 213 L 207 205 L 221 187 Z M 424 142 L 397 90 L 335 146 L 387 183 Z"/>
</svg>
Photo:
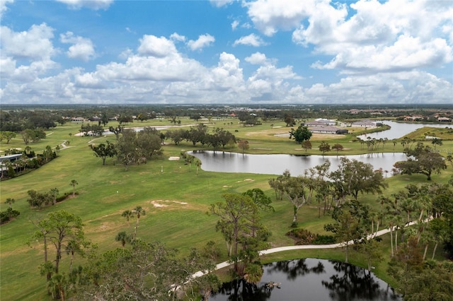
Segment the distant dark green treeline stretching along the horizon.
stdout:
<svg viewBox="0 0 453 301">
<path fill-rule="evenodd" d="M 0 131 L 50 129 L 64 124 L 68 118 L 82 117 L 232 117 L 253 114 L 266 120 L 328 118 L 337 120 L 398 118 L 417 114 L 422 117 L 453 117 L 453 105 L 3 105 L 0 110 Z M 428 118 L 428 120 L 430 119 Z M 105 125 L 105 124 L 104 124 Z"/>
</svg>

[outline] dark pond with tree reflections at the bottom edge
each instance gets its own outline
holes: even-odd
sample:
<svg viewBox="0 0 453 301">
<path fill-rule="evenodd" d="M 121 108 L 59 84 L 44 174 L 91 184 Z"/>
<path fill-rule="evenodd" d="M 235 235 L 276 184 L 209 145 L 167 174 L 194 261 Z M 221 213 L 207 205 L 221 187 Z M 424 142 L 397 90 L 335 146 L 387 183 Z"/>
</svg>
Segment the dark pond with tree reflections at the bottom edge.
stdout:
<svg viewBox="0 0 453 301">
<path fill-rule="evenodd" d="M 210 300 L 402 300 L 374 273 L 339 261 L 278 261 L 265 264 L 263 271 L 257 285 L 245 281 L 224 283 Z"/>
</svg>

